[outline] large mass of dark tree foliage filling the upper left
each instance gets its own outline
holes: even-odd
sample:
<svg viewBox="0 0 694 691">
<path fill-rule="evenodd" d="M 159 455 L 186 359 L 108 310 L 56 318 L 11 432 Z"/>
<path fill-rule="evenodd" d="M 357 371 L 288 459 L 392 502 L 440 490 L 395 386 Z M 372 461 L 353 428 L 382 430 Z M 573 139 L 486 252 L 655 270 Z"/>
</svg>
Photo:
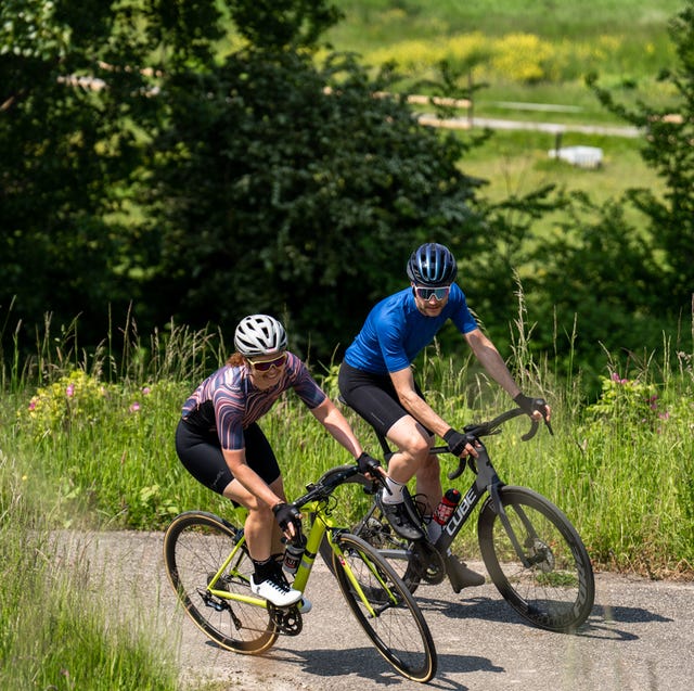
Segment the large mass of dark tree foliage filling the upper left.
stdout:
<svg viewBox="0 0 694 691">
<path fill-rule="evenodd" d="M 44 15 L 4 23 L 0 304 L 27 324 L 79 311 L 89 340 L 132 302 L 143 328 L 229 332 L 265 310 L 327 358 L 413 246 L 474 232 L 464 145 L 374 98 L 387 69 L 317 65 L 327 2 L 11 0 L 3 20 L 22 8 Z"/>
</svg>

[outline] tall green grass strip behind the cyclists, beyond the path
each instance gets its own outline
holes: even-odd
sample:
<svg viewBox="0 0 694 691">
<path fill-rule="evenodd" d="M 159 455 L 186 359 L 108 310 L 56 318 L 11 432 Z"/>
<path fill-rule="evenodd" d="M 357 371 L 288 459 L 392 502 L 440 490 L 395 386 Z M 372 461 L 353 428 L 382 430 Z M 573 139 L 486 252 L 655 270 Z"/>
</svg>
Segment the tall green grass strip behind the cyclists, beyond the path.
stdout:
<svg viewBox="0 0 694 691">
<path fill-rule="evenodd" d="M 519 438 L 523 422 L 509 423 L 504 434 L 489 439 L 502 477 L 532 487 L 564 509 L 600 566 L 691 575 L 692 355 L 672 353 L 664 340 L 661 350 L 647 358 L 615 358 L 605 371 L 602 396 L 588 406 L 579 393 L 580 372 L 558 382 L 551 361 L 531 360 L 524 310 L 520 295 L 511 367 L 524 389 L 550 400 L 556 434 L 540 434 L 526 444 Z M 124 347 L 123 379 L 105 381 L 107 368 L 93 359 L 90 374 L 70 361 L 64 371 L 37 367 L 50 376 L 40 384 L 25 380 L 22 388 L 3 393 L 0 449 L 23 478 L 8 485 L 2 471 L 5 512 L 12 511 L 17 491 L 51 497 L 51 511 L 42 515 L 52 527 L 159 529 L 185 509 L 229 510 L 192 479 L 174 450 L 181 405 L 223 359 L 222 344 L 214 333 L 171 327 L 158 342 L 163 351 L 154 355 L 149 350 L 154 342 L 145 347 L 134 333 Z M 417 376 L 434 408 L 452 424 L 462 426 L 511 405 L 474 359 L 446 356 L 437 347 L 416 363 Z M 127 361 L 133 353 L 137 364 Z M 317 375 L 335 398 L 336 366 Z M 350 411 L 346 414 L 363 444 L 377 452 L 372 432 Z M 349 461 L 296 396 L 282 398 L 261 425 L 290 497 L 327 468 Z M 463 539 L 472 549 L 472 529 Z"/>
</svg>

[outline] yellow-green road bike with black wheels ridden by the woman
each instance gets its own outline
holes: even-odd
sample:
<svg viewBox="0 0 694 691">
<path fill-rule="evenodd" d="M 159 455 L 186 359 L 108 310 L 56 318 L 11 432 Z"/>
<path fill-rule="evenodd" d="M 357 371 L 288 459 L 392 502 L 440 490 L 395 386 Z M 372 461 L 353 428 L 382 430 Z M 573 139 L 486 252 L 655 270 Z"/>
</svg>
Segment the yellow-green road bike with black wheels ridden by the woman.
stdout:
<svg viewBox="0 0 694 691">
<path fill-rule="evenodd" d="M 426 682 L 436 674 L 437 656 L 415 600 L 386 559 L 334 519 L 333 491 L 358 472 L 356 464 L 334 468 L 294 502 L 312 523 L 292 587 L 305 591 L 323 543 L 339 589 L 376 650 L 402 676 Z M 298 604 L 278 607 L 250 591 L 254 566 L 240 527 L 245 510 L 235 509 L 234 515 L 237 524 L 204 511 L 179 514 L 166 530 L 164 560 L 197 627 L 222 648 L 257 654 L 281 635 L 298 636 L 303 614 Z"/>
</svg>

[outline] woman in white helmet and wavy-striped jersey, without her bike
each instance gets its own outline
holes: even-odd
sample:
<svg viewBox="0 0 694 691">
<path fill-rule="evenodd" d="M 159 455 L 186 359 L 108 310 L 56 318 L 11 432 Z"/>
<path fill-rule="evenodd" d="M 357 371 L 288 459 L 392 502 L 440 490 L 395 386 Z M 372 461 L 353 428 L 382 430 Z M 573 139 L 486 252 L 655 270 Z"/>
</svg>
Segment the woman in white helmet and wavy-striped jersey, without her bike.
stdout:
<svg viewBox="0 0 694 691">
<path fill-rule="evenodd" d="M 298 602 L 301 593 L 282 573 L 281 538 L 282 533 L 288 539 L 297 534 L 300 515 L 286 503 L 278 460 L 257 421 L 293 388 L 362 472 L 378 472 L 378 463 L 363 452 L 306 364 L 286 349 L 286 333 L 277 319 L 245 317 L 236 327 L 234 345 L 236 351 L 227 363 L 183 405 L 176 451 L 195 479 L 248 509 L 245 536 L 255 566 L 250 589 L 286 606 Z"/>
</svg>

